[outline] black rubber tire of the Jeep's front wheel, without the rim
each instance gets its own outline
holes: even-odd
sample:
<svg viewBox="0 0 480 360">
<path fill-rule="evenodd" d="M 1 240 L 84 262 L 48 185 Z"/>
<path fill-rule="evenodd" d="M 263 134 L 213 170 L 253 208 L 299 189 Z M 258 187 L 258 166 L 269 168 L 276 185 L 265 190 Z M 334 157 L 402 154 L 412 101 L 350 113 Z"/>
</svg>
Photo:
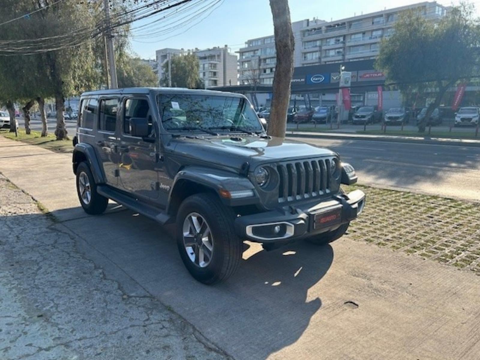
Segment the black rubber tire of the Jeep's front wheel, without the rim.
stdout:
<svg viewBox="0 0 480 360">
<path fill-rule="evenodd" d="M 203 217 L 212 235 L 211 259 L 204 267 L 191 260 L 184 244 L 183 226 L 187 216 L 196 213 Z M 232 209 L 223 205 L 214 194 L 200 193 L 186 198 L 177 214 L 177 245 L 180 257 L 190 274 L 204 284 L 215 284 L 232 276 L 240 264 L 242 241 L 234 232 Z M 194 240 L 192 240 L 194 241 Z M 200 240 L 201 241 L 201 240 Z M 190 250 L 195 252 L 195 248 Z M 195 252 L 197 258 L 198 250 Z"/>
</svg>

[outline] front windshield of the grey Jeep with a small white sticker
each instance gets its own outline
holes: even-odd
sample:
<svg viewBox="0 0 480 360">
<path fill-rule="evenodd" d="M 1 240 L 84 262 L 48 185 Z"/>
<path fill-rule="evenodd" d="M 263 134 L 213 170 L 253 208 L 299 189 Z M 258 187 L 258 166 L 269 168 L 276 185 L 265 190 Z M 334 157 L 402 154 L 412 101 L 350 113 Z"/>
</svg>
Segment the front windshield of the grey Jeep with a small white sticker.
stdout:
<svg viewBox="0 0 480 360">
<path fill-rule="evenodd" d="M 162 94 L 157 101 L 162 124 L 168 131 L 263 131 L 255 111 L 243 97 Z"/>
</svg>

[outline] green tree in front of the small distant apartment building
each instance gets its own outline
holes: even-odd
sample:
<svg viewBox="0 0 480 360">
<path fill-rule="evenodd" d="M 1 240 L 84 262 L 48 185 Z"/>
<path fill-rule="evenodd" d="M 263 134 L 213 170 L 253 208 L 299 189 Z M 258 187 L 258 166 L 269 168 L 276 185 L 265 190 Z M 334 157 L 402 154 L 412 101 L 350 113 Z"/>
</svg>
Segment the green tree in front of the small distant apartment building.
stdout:
<svg viewBox="0 0 480 360">
<path fill-rule="evenodd" d="M 203 88 L 204 84 L 200 79 L 200 64 L 194 54 L 172 56 L 171 73 L 172 86 L 187 87 L 190 89 Z M 168 61 L 163 64 L 163 78 L 160 81 L 162 86 L 168 86 Z"/>
</svg>

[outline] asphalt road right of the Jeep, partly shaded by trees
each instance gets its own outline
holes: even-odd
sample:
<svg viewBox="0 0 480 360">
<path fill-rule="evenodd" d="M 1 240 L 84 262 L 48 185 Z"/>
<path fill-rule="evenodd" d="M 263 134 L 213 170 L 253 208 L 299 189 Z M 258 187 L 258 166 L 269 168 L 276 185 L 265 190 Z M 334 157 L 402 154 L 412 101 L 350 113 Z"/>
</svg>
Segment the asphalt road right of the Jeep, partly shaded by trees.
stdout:
<svg viewBox="0 0 480 360">
<path fill-rule="evenodd" d="M 367 140 L 297 140 L 337 151 L 359 183 L 480 201 L 480 148 Z"/>
</svg>

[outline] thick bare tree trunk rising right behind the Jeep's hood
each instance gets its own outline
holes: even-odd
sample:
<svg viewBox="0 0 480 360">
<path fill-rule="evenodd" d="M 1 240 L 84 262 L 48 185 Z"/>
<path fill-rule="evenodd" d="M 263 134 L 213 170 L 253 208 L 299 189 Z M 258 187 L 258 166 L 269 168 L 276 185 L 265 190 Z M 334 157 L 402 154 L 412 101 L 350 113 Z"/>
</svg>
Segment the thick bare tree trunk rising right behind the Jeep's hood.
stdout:
<svg viewBox="0 0 480 360">
<path fill-rule="evenodd" d="M 295 40 L 288 0 L 270 0 L 270 8 L 272 9 L 275 33 L 276 67 L 268 134 L 283 138 L 287 128 L 287 111 L 290 104 Z"/>
</svg>

